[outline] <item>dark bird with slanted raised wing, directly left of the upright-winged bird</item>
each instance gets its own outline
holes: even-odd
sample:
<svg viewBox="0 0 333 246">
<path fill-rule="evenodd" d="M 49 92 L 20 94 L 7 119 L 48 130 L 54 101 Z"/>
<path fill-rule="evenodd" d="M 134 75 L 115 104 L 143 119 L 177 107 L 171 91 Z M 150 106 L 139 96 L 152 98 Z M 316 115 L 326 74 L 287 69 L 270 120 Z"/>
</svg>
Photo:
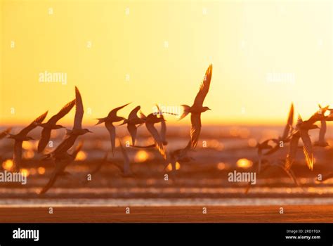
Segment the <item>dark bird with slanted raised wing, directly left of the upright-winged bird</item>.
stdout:
<svg viewBox="0 0 333 246">
<path fill-rule="evenodd" d="M 51 119 L 48 119 L 48 122 L 46 123 L 36 123 L 37 126 L 43 127 L 43 130 L 41 131 L 41 139 L 38 142 L 38 153 L 41 153 L 44 148 L 46 147 L 48 141 L 50 140 L 51 137 L 51 131 L 53 129 L 61 129 L 65 128 L 61 125 L 58 125 L 57 122 L 59 119 L 63 118 L 65 115 L 67 115 L 70 110 L 75 105 L 75 99 L 73 101 L 70 101 L 70 103 L 67 103 L 56 115 L 53 115 Z"/>
</svg>

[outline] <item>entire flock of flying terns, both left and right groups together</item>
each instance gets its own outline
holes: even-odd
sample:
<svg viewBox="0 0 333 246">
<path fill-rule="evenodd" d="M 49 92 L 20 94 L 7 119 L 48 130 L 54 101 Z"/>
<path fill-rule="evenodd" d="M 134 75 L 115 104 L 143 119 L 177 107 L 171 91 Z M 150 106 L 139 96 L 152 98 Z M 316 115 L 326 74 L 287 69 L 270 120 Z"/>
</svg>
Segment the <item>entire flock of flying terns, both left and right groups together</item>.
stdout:
<svg viewBox="0 0 333 246">
<path fill-rule="evenodd" d="M 171 153 L 166 152 L 165 146 L 167 145 L 166 141 L 166 123 L 164 119 L 164 114 L 171 114 L 175 115 L 169 112 L 162 112 L 157 106 L 157 112 L 152 112 L 149 115 L 144 115 L 143 112 L 141 112 L 141 106 L 136 106 L 131 112 L 129 113 L 129 116 L 127 118 L 120 117 L 117 115 L 119 110 L 122 110 L 122 108 L 128 106 L 130 103 L 127 103 L 125 105 L 122 105 L 118 108 L 115 108 L 109 112 L 109 114 L 106 117 L 98 118 L 98 124 L 104 123 L 105 128 L 110 134 L 110 143 L 111 143 L 111 153 L 112 156 L 115 155 L 115 141 L 116 141 L 116 127 L 114 123 L 116 122 L 122 122 L 120 125 L 126 125 L 129 134 L 131 135 L 131 147 L 132 148 L 157 148 L 160 155 L 164 158 L 166 168 L 169 164 L 171 164 L 172 170 L 176 170 L 176 162 L 190 162 L 192 157 L 188 155 L 188 152 L 190 150 L 193 150 L 196 148 L 199 137 L 200 137 L 200 131 L 202 128 L 201 124 L 201 114 L 202 112 L 206 112 L 207 110 L 210 110 L 208 107 L 204 107 L 204 98 L 206 98 L 207 93 L 209 91 L 209 86 L 211 84 L 211 75 L 212 75 L 212 65 L 209 65 L 206 74 L 204 75 L 204 79 L 202 81 L 202 84 L 200 85 L 200 90 L 197 93 L 197 96 L 195 97 L 194 103 L 189 105 L 181 105 L 183 107 L 183 113 L 180 115 L 179 119 L 183 119 L 187 115 L 190 114 L 191 119 L 191 129 L 190 129 L 190 139 L 185 146 L 185 148 L 181 148 L 178 150 L 171 151 Z M 63 141 L 50 153 L 47 153 L 44 155 L 43 160 L 52 160 L 55 164 L 55 168 L 53 170 L 53 173 L 51 174 L 51 177 L 46 183 L 46 186 L 41 189 L 40 194 L 46 193 L 49 188 L 53 186 L 55 181 L 58 179 L 58 176 L 62 176 L 67 174 L 65 171 L 68 164 L 73 162 L 75 158 L 77 157 L 77 153 L 82 148 L 82 142 L 79 142 L 79 144 L 72 150 L 72 153 L 69 153 L 69 150 L 74 146 L 75 142 L 77 141 L 77 138 L 79 136 L 82 136 L 84 134 L 91 133 L 89 129 L 82 128 L 82 119 L 84 116 L 84 105 L 82 102 L 81 94 L 79 92 L 79 89 L 75 87 L 75 99 L 70 101 L 70 103 L 67 103 L 56 115 L 53 115 L 50 119 L 48 119 L 47 122 L 44 122 L 44 119 L 46 118 L 48 112 L 44 112 L 44 114 L 37 117 L 37 119 L 34 119 L 34 121 L 29 124 L 27 127 L 22 129 L 18 134 L 11 134 L 11 129 L 6 129 L 5 131 L 2 131 L 0 133 L 0 139 L 5 138 L 12 138 L 14 140 L 14 150 L 13 150 L 13 170 L 18 171 L 20 170 L 20 165 L 22 162 L 22 143 L 23 141 L 30 141 L 33 140 L 28 134 L 32 129 L 36 127 L 41 127 L 41 138 L 38 142 L 38 153 L 43 153 L 44 149 L 46 148 L 46 145 L 48 145 L 50 139 L 51 139 L 51 131 L 57 130 L 57 129 L 63 129 L 65 127 L 57 124 L 57 122 L 63 118 L 65 115 L 67 115 L 72 108 L 75 106 L 75 116 L 74 116 L 74 124 L 72 129 L 66 129 L 66 135 L 65 138 L 63 138 Z M 329 107 L 322 108 L 319 105 L 320 109 L 318 112 L 315 112 L 314 115 L 312 115 L 308 120 L 303 121 L 301 116 L 299 115 L 298 120 L 296 122 L 296 125 L 293 126 L 293 119 L 294 119 L 294 105 L 292 104 L 289 110 L 289 115 L 287 119 L 287 124 L 285 126 L 285 129 L 283 131 L 282 136 L 278 138 L 270 138 L 266 141 L 263 141 L 262 143 L 258 143 L 256 145 L 256 148 L 258 149 L 258 162 L 256 164 L 258 165 L 257 173 L 261 174 L 264 171 L 266 171 L 269 167 L 278 166 L 282 168 L 289 177 L 293 179 L 293 181 L 298 185 L 296 181 L 296 177 L 294 176 L 294 173 L 292 172 L 292 164 L 295 161 L 296 152 L 300 148 L 299 147 L 299 139 L 303 142 L 303 153 L 305 155 L 306 164 L 308 165 L 309 169 L 313 169 L 314 164 L 314 157 L 313 157 L 313 144 L 311 143 L 311 138 L 308 134 L 308 131 L 313 129 L 318 129 L 319 127 L 315 125 L 315 122 L 320 122 L 320 133 L 319 133 L 319 139 L 317 142 L 314 143 L 314 145 L 325 147 L 328 144 L 325 142 L 325 132 L 326 132 L 326 122 L 327 121 L 333 121 L 333 109 L 329 109 Z M 329 111 L 329 115 L 325 116 L 325 112 Z M 43 123 L 44 122 L 44 123 Z M 138 127 L 140 127 L 142 124 L 145 124 L 145 127 L 148 129 L 150 135 L 154 139 L 154 143 L 151 145 L 141 146 L 136 145 L 136 135 L 138 131 Z M 159 131 L 157 131 L 155 124 L 161 124 L 161 128 Z M 287 157 L 284 160 L 275 160 L 275 161 L 268 161 L 266 159 L 263 159 L 263 156 L 271 155 L 278 150 L 282 149 L 281 147 L 284 147 L 285 143 L 289 143 L 289 152 L 287 154 Z M 119 141 L 119 147 L 122 151 L 122 156 L 124 159 L 123 164 L 115 163 L 119 169 L 121 169 L 123 176 L 131 176 L 133 175 L 131 173 L 130 168 L 130 161 L 129 156 L 126 153 L 126 148 L 122 145 L 121 141 Z M 266 151 L 267 150 L 267 151 Z M 266 151 L 264 153 L 264 151 Z M 105 156 L 103 157 L 103 160 L 101 160 L 98 165 L 96 166 L 93 171 L 91 171 L 91 175 L 95 174 L 105 162 L 107 162 L 107 157 L 109 155 L 109 152 L 105 153 Z M 332 173 L 327 174 L 324 179 L 329 179 L 333 176 Z M 248 192 L 250 186 L 247 187 L 246 192 Z"/>
</svg>

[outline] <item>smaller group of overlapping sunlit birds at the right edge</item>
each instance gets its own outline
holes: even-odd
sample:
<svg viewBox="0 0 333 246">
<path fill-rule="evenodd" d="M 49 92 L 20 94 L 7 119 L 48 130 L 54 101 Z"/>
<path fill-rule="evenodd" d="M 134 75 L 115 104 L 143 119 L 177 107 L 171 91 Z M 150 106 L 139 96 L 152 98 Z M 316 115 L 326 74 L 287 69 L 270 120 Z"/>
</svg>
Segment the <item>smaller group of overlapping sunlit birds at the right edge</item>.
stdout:
<svg viewBox="0 0 333 246">
<path fill-rule="evenodd" d="M 282 133 L 282 136 L 278 138 L 269 138 L 262 143 L 258 143 L 256 145 L 257 153 L 258 153 L 258 165 L 257 174 L 261 174 L 270 167 L 280 167 L 285 173 L 294 181 L 296 186 L 299 186 L 297 182 L 296 176 L 292 171 L 292 164 L 295 162 L 296 153 L 299 148 L 303 148 L 303 153 L 305 157 L 306 164 L 311 171 L 313 170 L 314 164 L 314 156 L 313 156 L 313 145 L 318 147 L 326 147 L 328 143 L 325 141 L 325 134 L 327 125 L 326 122 L 333 121 L 333 109 L 329 109 L 327 105 L 325 108 L 319 106 L 319 110 L 315 112 L 309 119 L 303 121 L 301 115 L 298 115 L 298 119 L 296 125 L 293 127 L 294 122 L 294 104 L 290 105 L 289 114 L 287 118 L 287 124 L 285 125 L 285 129 Z M 329 111 L 329 115 L 325 115 L 325 113 Z M 320 122 L 320 127 L 316 125 L 316 122 Z M 318 141 L 315 141 L 314 144 L 311 143 L 311 138 L 309 135 L 309 131 L 313 129 L 320 129 Z M 303 147 L 299 146 L 299 140 L 303 142 Z M 285 143 L 289 143 L 289 151 L 287 153 L 287 157 L 285 159 L 273 160 L 269 161 L 267 159 L 263 159 L 263 155 L 268 156 L 273 153 L 281 150 L 285 147 Z M 266 153 L 263 151 L 266 150 Z M 329 174 L 325 174 L 322 176 L 322 179 L 318 179 L 318 181 L 325 181 L 327 179 L 331 179 L 333 177 L 333 172 Z M 245 193 L 249 191 L 250 184 L 247 186 Z"/>
</svg>

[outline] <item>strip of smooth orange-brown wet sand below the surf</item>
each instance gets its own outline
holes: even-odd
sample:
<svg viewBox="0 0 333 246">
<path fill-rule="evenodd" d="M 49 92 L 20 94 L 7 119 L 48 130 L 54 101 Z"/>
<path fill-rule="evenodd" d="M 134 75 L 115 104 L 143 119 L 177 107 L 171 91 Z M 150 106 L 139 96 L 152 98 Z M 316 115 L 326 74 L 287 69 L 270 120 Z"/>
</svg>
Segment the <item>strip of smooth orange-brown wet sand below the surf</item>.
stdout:
<svg viewBox="0 0 333 246">
<path fill-rule="evenodd" d="M 162 207 L 1 207 L 4 223 L 36 222 L 278 222 L 315 223 L 332 222 L 332 205 L 286 205 L 284 214 L 280 206 L 208 206 L 203 214 L 201 206 Z"/>
</svg>

